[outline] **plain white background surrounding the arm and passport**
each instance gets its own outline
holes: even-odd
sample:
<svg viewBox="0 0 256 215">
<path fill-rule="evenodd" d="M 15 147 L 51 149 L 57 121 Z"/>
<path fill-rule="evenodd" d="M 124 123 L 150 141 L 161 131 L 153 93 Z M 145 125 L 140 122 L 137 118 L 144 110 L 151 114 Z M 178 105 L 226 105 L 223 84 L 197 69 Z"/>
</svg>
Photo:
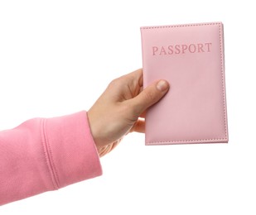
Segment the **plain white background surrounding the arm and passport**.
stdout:
<svg viewBox="0 0 256 215">
<path fill-rule="evenodd" d="M 144 146 L 131 134 L 104 175 L 9 203 L 7 214 L 256 214 L 254 1 L 0 0 L 0 129 L 88 110 L 142 67 L 140 26 L 223 22 L 229 144 Z M 0 176 L 1 177 L 1 176 Z"/>
</svg>

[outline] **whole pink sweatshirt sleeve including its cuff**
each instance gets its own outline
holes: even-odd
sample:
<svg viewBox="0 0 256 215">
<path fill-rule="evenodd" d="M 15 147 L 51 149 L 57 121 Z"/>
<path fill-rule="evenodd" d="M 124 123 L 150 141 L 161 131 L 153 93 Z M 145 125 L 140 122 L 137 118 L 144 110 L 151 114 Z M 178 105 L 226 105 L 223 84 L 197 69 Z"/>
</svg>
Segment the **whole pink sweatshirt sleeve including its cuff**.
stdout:
<svg viewBox="0 0 256 215">
<path fill-rule="evenodd" d="M 0 131 L 0 205 L 100 174 L 86 112 Z"/>
</svg>

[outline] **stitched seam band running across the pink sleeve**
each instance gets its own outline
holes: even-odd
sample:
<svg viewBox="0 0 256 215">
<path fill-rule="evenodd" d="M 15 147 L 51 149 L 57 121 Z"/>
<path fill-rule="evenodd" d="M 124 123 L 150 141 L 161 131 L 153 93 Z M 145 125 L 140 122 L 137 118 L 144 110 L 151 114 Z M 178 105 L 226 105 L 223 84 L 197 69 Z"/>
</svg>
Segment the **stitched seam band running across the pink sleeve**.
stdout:
<svg viewBox="0 0 256 215">
<path fill-rule="evenodd" d="M 58 189 L 58 183 L 57 183 L 57 174 L 56 174 L 56 171 L 54 170 L 55 168 L 55 165 L 53 163 L 53 160 L 52 160 L 52 156 L 51 156 L 51 146 L 49 144 L 49 141 L 46 137 L 46 119 L 42 119 L 42 122 L 41 122 L 41 136 L 42 136 L 42 143 L 43 143 L 43 146 L 44 146 L 44 152 L 45 152 L 45 157 L 46 157 L 46 164 L 48 166 L 48 170 L 50 172 L 50 175 L 51 175 L 51 183 L 54 187 L 54 189 Z"/>
</svg>

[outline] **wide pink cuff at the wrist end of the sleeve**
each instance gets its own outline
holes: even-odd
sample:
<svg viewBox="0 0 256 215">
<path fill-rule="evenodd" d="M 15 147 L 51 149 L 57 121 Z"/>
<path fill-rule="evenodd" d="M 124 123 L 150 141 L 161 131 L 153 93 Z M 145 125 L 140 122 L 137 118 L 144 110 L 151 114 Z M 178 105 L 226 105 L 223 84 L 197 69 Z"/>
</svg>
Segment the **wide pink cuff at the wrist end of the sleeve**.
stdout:
<svg viewBox="0 0 256 215">
<path fill-rule="evenodd" d="M 102 174 L 87 112 L 45 119 L 41 125 L 54 189 Z"/>
</svg>

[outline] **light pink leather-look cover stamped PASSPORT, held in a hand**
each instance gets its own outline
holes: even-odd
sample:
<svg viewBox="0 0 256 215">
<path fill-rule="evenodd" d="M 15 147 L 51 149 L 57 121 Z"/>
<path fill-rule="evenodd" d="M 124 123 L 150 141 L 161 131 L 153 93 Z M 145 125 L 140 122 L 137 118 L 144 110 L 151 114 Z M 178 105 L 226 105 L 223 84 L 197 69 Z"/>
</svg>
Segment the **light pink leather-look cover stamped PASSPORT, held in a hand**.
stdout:
<svg viewBox="0 0 256 215">
<path fill-rule="evenodd" d="M 146 145 L 228 142 L 221 22 L 141 27 L 143 84 L 171 88 L 147 111 Z"/>
</svg>

